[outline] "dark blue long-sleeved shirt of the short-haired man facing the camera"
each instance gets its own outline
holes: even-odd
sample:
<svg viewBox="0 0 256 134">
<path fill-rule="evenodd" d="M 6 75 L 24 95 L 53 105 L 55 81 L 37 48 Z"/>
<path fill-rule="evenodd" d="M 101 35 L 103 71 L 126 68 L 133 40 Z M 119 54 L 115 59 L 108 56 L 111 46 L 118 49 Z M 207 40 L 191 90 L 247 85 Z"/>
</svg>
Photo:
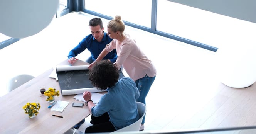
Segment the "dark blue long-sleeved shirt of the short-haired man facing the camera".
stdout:
<svg viewBox="0 0 256 134">
<path fill-rule="evenodd" d="M 95 61 L 101 51 L 109 44 L 113 39 L 111 39 L 105 32 L 101 42 L 98 42 L 92 34 L 86 36 L 79 44 L 72 49 L 68 54 L 68 59 L 71 57 L 76 57 L 78 54 L 83 52 L 86 48 L 91 52 L 92 60 Z M 117 59 L 116 49 L 109 52 L 103 59 L 109 59 L 114 63 Z"/>
</svg>

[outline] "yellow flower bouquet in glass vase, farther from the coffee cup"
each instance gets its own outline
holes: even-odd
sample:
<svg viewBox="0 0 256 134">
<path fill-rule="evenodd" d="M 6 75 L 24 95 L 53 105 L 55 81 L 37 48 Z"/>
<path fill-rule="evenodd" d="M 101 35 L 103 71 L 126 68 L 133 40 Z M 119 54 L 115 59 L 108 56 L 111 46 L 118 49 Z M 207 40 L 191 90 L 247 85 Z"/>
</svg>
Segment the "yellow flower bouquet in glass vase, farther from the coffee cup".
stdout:
<svg viewBox="0 0 256 134">
<path fill-rule="evenodd" d="M 26 105 L 24 105 L 22 107 L 25 111 L 25 114 L 29 114 L 30 118 L 35 117 L 35 115 L 37 115 L 39 112 L 38 110 L 41 108 L 39 103 L 27 103 Z"/>
</svg>

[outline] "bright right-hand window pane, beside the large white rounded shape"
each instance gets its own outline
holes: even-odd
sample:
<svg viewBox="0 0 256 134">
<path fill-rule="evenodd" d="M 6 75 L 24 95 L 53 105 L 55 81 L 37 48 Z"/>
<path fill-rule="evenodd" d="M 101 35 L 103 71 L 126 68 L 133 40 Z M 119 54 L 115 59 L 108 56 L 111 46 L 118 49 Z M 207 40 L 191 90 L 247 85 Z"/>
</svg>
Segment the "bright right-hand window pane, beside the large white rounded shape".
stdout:
<svg viewBox="0 0 256 134">
<path fill-rule="evenodd" d="M 157 30 L 214 47 L 251 34 L 255 23 L 212 13 L 198 8 L 158 0 Z"/>
</svg>

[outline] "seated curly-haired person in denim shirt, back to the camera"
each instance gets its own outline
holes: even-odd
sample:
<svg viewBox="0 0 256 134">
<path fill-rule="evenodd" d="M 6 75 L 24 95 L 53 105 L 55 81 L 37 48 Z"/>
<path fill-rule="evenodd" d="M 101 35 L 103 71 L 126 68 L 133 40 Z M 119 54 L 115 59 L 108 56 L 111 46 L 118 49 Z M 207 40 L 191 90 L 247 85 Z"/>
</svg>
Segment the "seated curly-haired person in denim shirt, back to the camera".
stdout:
<svg viewBox="0 0 256 134">
<path fill-rule="evenodd" d="M 91 109 L 91 123 L 85 133 L 113 132 L 135 123 L 139 118 L 136 99 L 140 93 L 135 82 L 128 77 L 120 80 L 119 71 L 115 64 L 102 60 L 89 71 L 89 80 L 94 87 L 108 93 L 104 94 L 95 105 L 91 93 L 86 91 L 83 98 Z"/>
</svg>

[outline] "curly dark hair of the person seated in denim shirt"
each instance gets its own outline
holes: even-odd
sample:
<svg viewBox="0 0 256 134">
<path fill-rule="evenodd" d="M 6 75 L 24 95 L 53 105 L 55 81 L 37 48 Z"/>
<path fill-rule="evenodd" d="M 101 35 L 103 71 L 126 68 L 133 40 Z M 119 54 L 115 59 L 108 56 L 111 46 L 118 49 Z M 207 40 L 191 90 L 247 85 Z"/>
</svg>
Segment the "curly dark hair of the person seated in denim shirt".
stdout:
<svg viewBox="0 0 256 134">
<path fill-rule="evenodd" d="M 113 87 L 118 82 L 118 78 L 119 71 L 116 64 L 109 60 L 101 60 L 89 70 L 89 80 L 100 90 Z"/>
</svg>

